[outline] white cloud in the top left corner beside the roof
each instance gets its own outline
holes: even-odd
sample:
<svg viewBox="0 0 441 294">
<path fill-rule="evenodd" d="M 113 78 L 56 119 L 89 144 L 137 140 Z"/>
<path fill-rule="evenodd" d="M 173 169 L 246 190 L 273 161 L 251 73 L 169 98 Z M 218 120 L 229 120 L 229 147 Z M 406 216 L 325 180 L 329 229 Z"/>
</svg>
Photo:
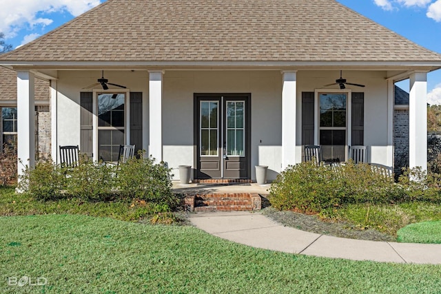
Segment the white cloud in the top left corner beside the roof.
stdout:
<svg viewBox="0 0 441 294">
<path fill-rule="evenodd" d="M 0 0 L 0 32 L 12 38 L 23 28 L 34 28 L 52 23 L 41 14 L 69 12 L 74 17 L 99 5 L 100 0 Z"/>
</svg>

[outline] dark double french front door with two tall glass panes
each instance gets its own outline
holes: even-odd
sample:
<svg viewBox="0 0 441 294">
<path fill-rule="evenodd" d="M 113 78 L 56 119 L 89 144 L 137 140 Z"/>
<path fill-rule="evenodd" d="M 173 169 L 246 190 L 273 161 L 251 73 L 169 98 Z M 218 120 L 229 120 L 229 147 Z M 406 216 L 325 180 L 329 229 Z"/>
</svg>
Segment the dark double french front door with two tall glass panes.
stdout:
<svg viewBox="0 0 441 294">
<path fill-rule="evenodd" d="M 250 95 L 195 94 L 197 178 L 249 178 Z"/>
</svg>

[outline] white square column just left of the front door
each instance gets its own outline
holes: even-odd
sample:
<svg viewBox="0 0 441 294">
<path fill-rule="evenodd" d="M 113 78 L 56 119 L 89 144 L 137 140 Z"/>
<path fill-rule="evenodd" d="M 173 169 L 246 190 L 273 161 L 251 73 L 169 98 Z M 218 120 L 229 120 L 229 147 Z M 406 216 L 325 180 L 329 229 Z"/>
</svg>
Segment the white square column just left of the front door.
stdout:
<svg viewBox="0 0 441 294">
<path fill-rule="evenodd" d="M 163 72 L 149 72 L 149 151 L 148 155 L 163 160 Z"/>
</svg>

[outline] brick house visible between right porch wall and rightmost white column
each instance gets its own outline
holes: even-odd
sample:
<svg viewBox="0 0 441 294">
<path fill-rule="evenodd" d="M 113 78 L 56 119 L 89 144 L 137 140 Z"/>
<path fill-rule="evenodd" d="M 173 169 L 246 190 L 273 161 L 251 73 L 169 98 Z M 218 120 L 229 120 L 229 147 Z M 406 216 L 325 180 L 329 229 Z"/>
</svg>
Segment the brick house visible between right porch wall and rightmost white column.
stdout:
<svg viewBox="0 0 441 294">
<path fill-rule="evenodd" d="M 395 86 L 393 108 L 393 172 L 409 167 L 409 93 Z"/>
</svg>

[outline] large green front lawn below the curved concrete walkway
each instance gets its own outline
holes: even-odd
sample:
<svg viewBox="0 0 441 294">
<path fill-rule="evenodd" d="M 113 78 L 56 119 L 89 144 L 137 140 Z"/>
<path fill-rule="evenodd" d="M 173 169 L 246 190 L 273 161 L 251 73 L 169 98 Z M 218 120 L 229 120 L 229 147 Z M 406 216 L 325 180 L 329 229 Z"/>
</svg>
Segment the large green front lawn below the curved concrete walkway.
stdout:
<svg viewBox="0 0 441 294">
<path fill-rule="evenodd" d="M 441 266 L 277 253 L 193 227 L 0 218 L 0 293 L 435 293 Z M 8 277 L 45 286 L 8 286 Z"/>
</svg>

